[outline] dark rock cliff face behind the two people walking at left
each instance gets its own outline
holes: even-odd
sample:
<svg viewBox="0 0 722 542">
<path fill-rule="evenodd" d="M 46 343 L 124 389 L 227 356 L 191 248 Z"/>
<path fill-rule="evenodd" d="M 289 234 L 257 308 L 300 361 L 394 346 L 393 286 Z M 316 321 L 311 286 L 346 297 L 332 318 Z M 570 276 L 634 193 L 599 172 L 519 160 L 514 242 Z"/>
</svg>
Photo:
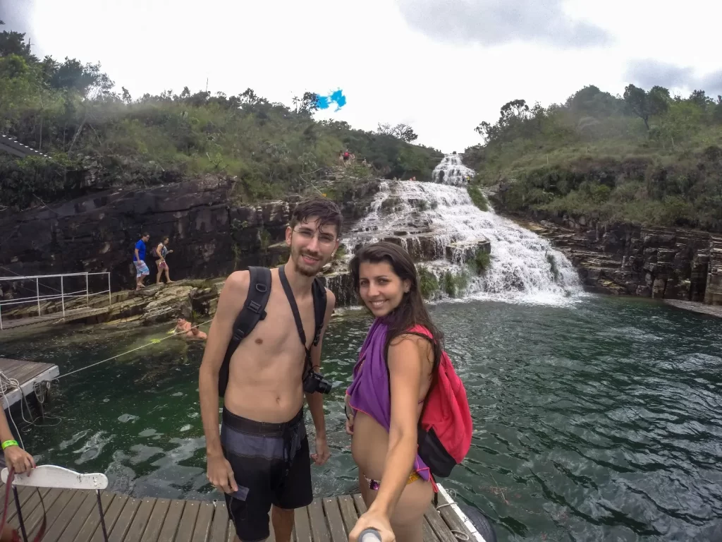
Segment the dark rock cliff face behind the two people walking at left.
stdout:
<svg viewBox="0 0 722 542">
<path fill-rule="evenodd" d="M 163 236 L 170 236 L 174 280 L 221 277 L 248 265 L 282 262 L 287 249 L 279 243 L 300 197 L 232 205 L 231 187 L 231 178 L 204 176 L 147 190 L 100 192 L 25 212 L 5 210 L 0 213 L 0 275 L 110 271 L 113 291 L 130 288 L 133 248 L 144 231 L 150 234 L 146 261 L 152 282 L 157 269 L 149 251 Z M 373 182 L 348 184 L 348 194 L 341 194 L 348 202 L 344 215 L 361 215 L 364 198 L 374 191 Z M 7 293 L 17 285 L 0 288 Z"/>
</svg>

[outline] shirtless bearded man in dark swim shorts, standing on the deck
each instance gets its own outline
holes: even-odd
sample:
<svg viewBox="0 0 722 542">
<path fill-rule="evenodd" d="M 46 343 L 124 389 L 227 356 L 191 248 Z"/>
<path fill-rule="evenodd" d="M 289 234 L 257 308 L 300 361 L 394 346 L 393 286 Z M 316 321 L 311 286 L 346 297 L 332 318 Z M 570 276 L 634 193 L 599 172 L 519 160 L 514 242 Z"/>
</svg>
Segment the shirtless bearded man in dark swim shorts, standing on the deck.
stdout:
<svg viewBox="0 0 722 542">
<path fill-rule="evenodd" d="M 284 270 L 303 322 L 311 364 L 321 366 L 323 333 L 336 298 L 326 291 L 326 314 L 321 340 L 311 346 L 315 332 L 313 279 L 331 261 L 339 246 L 342 216 L 328 199 L 302 202 L 286 229 L 290 258 Z M 236 317 L 245 303 L 250 284 L 248 271 L 228 277 L 218 300 L 201 363 L 199 394 L 206 434 L 208 479 L 225 493 L 228 512 L 235 524 L 236 541 L 261 541 L 269 536 L 271 509 L 274 534 L 279 542 L 291 539 L 294 509 L 313 500 L 310 450 L 303 423 L 302 377 L 305 349 L 301 344 L 279 270 L 271 270 L 271 293 L 266 318 L 253 328 L 230 359 L 224 397 L 221 436 L 218 434 L 218 379 Z M 305 395 L 316 426 L 316 465 L 326 463 L 326 424 L 323 396 Z"/>
</svg>

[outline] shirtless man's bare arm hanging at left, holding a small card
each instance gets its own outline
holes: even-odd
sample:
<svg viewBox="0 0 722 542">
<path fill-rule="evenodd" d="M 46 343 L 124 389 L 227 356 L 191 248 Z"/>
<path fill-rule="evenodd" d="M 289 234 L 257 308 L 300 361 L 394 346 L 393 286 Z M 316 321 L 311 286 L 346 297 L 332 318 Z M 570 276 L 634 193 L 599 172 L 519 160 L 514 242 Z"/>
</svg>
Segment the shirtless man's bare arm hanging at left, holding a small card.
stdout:
<svg viewBox="0 0 722 542">
<path fill-rule="evenodd" d="M 226 493 L 230 493 L 231 490 L 238 491 L 238 486 L 221 449 L 218 431 L 218 375 L 233 333 L 233 322 L 238 317 L 239 307 L 243 306 L 248 295 L 249 282 L 248 271 L 237 271 L 227 278 L 208 331 L 198 377 L 201 420 L 206 435 L 208 479 L 217 489 Z"/>
</svg>

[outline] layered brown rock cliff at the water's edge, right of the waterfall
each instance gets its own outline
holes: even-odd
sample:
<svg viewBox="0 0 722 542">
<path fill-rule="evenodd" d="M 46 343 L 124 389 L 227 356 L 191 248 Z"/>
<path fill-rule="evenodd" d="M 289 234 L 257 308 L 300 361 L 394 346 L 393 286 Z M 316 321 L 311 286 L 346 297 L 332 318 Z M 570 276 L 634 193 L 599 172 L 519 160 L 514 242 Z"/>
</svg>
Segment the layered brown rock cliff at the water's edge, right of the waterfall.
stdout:
<svg viewBox="0 0 722 542">
<path fill-rule="evenodd" d="M 722 304 L 722 236 L 534 212 L 520 218 L 604 293 Z"/>
</svg>

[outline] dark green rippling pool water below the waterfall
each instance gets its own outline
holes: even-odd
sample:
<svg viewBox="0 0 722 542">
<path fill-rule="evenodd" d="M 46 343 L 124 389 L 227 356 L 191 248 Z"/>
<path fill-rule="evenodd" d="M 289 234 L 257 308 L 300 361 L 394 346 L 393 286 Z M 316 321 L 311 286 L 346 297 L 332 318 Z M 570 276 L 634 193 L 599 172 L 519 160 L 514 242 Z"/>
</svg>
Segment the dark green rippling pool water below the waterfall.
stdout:
<svg viewBox="0 0 722 542">
<path fill-rule="evenodd" d="M 722 321 L 629 298 L 438 304 L 464 379 L 474 442 L 443 481 L 502 541 L 710 540 L 722 517 Z M 356 490 L 342 398 L 370 319 L 344 311 L 324 344 L 333 456 L 317 495 Z M 0 356 L 61 374 L 166 337 L 62 327 L 0 343 Z M 22 421 L 40 463 L 103 471 L 136 496 L 213 499 L 197 371 L 203 345 L 173 337 L 53 386 L 43 426 Z M 308 426 L 311 427 L 310 416 Z"/>
</svg>

